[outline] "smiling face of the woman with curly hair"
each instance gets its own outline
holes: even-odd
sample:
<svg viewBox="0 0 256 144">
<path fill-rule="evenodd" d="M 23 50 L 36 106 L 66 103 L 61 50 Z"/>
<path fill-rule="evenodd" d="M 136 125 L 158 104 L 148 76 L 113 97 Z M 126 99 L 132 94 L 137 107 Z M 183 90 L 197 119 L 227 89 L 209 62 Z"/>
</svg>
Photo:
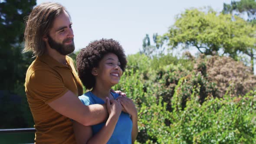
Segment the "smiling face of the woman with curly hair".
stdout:
<svg viewBox="0 0 256 144">
<path fill-rule="evenodd" d="M 118 84 L 123 74 L 120 65 L 118 56 L 114 53 L 108 53 L 99 62 L 98 68 L 92 69 L 92 74 L 95 75 L 96 82 L 113 86 Z"/>
</svg>

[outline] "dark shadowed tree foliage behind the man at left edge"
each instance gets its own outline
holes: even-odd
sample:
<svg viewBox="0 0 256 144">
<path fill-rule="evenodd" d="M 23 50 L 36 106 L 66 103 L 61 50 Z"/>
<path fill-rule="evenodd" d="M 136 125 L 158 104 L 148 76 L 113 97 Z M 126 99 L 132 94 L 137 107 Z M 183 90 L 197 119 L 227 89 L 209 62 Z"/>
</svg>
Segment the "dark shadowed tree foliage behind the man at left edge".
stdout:
<svg viewBox="0 0 256 144">
<path fill-rule="evenodd" d="M 0 119 L 1 128 L 33 126 L 24 82 L 32 53 L 22 54 L 24 17 L 36 0 L 0 0 Z"/>
</svg>

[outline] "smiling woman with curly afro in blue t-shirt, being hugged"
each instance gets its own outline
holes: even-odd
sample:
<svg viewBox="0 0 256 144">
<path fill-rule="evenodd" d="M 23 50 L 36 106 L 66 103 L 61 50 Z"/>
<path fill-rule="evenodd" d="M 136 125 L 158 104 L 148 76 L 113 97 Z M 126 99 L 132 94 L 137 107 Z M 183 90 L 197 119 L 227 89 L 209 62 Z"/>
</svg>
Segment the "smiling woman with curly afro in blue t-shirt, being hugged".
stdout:
<svg viewBox="0 0 256 144">
<path fill-rule="evenodd" d="M 127 97 L 110 92 L 118 84 L 126 66 L 126 57 L 120 44 L 112 39 L 101 39 L 89 44 L 77 56 L 79 78 L 85 88 L 92 89 L 79 99 L 84 105 L 104 104 L 109 117 L 105 123 L 83 126 L 74 121 L 78 144 L 131 144 L 138 134 L 138 112 Z M 122 108 L 125 112 L 122 112 Z"/>
</svg>

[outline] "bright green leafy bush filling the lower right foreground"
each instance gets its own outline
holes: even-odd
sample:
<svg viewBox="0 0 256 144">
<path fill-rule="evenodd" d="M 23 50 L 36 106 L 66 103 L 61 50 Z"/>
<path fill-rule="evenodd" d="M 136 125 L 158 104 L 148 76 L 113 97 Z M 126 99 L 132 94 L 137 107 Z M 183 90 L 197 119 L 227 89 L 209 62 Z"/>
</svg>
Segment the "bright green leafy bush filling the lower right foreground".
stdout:
<svg viewBox="0 0 256 144">
<path fill-rule="evenodd" d="M 158 144 L 253 144 L 256 142 L 256 96 L 219 99 L 209 97 L 200 104 L 193 89 L 184 110 L 166 111 L 166 104 L 152 103 L 141 108 L 139 129 L 146 129 L 147 141 Z M 152 97 L 154 98 L 154 97 Z M 151 99 L 152 99 L 151 98 Z M 142 111 L 143 110 L 143 111 Z M 165 123 L 171 121 L 170 125 Z M 141 128 L 142 126 L 142 128 Z M 139 138 L 139 137 L 138 137 Z"/>
</svg>

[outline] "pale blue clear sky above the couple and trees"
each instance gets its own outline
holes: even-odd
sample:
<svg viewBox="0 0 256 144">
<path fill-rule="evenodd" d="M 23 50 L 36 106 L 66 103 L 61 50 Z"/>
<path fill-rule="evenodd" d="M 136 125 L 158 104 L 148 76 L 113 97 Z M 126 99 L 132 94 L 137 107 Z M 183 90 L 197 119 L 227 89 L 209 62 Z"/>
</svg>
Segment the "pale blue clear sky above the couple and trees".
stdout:
<svg viewBox="0 0 256 144">
<path fill-rule="evenodd" d="M 220 12 L 231 0 L 37 0 L 61 3 L 69 11 L 73 23 L 75 51 L 97 39 L 117 40 L 126 55 L 142 49 L 149 34 L 163 35 L 175 17 L 191 7 L 212 7 Z M 196 49 L 190 49 L 192 54 Z M 175 55 L 175 54 L 174 54 Z"/>
</svg>

